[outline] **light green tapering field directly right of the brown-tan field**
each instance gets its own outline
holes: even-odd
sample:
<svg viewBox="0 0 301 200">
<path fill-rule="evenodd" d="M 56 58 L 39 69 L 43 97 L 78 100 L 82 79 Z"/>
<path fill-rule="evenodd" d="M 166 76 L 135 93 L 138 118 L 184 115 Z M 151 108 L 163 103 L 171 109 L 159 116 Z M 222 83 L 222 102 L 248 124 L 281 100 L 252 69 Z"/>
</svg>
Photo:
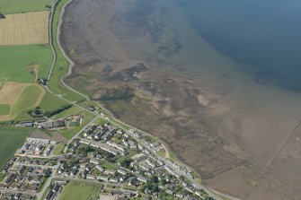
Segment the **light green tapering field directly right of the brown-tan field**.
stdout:
<svg viewBox="0 0 301 200">
<path fill-rule="evenodd" d="M 29 85 L 27 86 L 24 91 L 22 91 L 22 94 L 17 100 L 17 102 L 13 105 L 13 108 L 10 112 L 10 116 L 17 117 L 19 113 L 21 113 L 24 110 L 32 109 L 39 105 L 39 98 L 43 95 L 43 88 L 40 88 L 38 85 Z"/>
</svg>

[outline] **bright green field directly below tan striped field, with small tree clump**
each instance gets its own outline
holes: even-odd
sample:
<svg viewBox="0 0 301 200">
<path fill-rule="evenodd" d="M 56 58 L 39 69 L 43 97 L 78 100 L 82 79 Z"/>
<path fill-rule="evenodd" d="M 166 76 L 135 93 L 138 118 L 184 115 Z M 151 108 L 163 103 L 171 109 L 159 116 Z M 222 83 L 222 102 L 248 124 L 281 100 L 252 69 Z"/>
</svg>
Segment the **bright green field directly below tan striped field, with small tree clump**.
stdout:
<svg viewBox="0 0 301 200">
<path fill-rule="evenodd" d="M 33 83 L 36 75 L 31 74 L 30 66 L 40 65 L 38 76 L 45 78 L 49 73 L 51 59 L 48 45 L 0 46 L 0 80 Z"/>
</svg>

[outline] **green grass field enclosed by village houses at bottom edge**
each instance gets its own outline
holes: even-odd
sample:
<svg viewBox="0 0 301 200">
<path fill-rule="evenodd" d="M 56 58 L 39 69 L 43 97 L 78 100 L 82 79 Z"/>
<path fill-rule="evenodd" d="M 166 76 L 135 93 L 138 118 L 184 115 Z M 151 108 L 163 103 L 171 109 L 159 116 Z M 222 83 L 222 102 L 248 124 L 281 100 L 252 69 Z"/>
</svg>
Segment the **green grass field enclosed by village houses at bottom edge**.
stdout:
<svg viewBox="0 0 301 200">
<path fill-rule="evenodd" d="M 94 200 L 98 199 L 102 186 L 100 184 L 70 181 L 63 190 L 60 200 Z"/>
</svg>

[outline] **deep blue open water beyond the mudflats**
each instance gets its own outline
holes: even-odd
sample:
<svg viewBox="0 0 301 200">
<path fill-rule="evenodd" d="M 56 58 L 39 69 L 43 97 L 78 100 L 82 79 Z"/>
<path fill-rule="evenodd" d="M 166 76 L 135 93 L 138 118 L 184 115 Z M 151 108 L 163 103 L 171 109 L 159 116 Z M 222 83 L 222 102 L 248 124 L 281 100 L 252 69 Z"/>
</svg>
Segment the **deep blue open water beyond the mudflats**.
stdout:
<svg viewBox="0 0 301 200">
<path fill-rule="evenodd" d="M 178 0 L 190 26 L 262 80 L 301 91 L 301 1 Z"/>
</svg>

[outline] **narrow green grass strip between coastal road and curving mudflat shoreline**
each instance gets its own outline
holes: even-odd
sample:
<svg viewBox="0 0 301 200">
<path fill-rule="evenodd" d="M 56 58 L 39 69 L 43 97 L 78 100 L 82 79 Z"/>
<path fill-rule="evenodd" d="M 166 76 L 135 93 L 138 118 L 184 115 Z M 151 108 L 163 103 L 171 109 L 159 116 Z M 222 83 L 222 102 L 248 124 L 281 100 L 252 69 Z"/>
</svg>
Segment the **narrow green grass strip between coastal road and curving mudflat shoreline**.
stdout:
<svg viewBox="0 0 301 200">
<path fill-rule="evenodd" d="M 53 47 L 55 48 L 57 54 L 57 60 L 53 68 L 53 73 L 51 74 L 49 80 L 49 88 L 51 91 L 54 91 L 57 94 L 64 95 L 64 98 L 66 98 L 67 100 L 78 102 L 84 100 L 84 98 L 81 95 L 78 95 L 77 93 L 68 90 L 60 81 L 61 77 L 68 73 L 69 67 L 69 63 L 58 48 L 57 42 L 59 15 L 63 5 L 66 4 L 66 2 L 67 0 L 61 0 L 58 2 L 52 21 Z"/>
</svg>

